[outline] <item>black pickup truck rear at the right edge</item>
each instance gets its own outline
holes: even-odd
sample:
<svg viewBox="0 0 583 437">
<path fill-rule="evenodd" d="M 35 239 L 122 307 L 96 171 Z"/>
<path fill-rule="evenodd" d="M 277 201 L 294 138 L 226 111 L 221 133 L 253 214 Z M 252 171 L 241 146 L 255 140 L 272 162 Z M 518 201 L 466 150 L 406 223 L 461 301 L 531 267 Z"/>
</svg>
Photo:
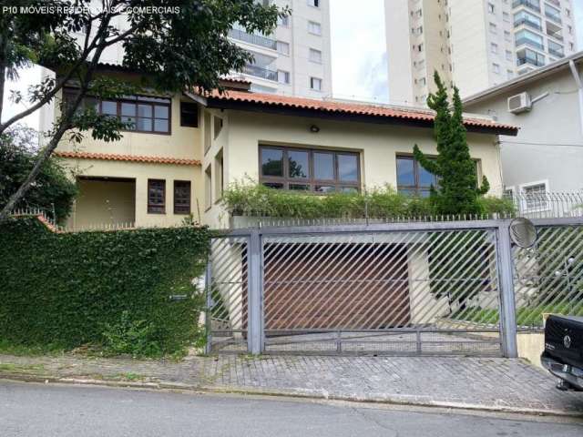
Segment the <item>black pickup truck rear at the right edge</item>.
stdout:
<svg viewBox="0 0 583 437">
<path fill-rule="evenodd" d="M 553 315 L 547 319 L 540 361 L 559 378 L 558 389 L 583 391 L 583 317 Z"/>
</svg>

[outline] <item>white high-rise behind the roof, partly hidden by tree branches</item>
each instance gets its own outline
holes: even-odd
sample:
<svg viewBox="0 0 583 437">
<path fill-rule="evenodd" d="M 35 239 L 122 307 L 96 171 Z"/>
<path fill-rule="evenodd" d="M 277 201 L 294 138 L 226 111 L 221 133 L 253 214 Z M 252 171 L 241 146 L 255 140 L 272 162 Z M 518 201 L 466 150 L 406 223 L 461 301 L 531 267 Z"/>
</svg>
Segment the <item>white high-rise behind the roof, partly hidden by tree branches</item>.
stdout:
<svg viewBox="0 0 583 437">
<path fill-rule="evenodd" d="M 265 0 L 288 5 L 292 15 L 281 19 L 270 36 L 251 35 L 235 26 L 230 38 L 251 52 L 254 62 L 242 76 L 263 93 L 322 98 L 332 94 L 330 0 Z"/>
</svg>

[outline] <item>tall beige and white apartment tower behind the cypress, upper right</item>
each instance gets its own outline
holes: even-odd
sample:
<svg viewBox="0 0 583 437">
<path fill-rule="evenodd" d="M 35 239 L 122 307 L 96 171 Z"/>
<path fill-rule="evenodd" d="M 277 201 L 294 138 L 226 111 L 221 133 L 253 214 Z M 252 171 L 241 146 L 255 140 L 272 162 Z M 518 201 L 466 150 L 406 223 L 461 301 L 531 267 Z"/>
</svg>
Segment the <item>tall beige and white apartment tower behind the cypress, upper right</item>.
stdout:
<svg viewBox="0 0 583 437">
<path fill-rule="evenodd" d="M 391 102 L 424 105 L 434 71 L 466 97 L 575 53 L 574 1 L 385 0 Z"/>
</svg>

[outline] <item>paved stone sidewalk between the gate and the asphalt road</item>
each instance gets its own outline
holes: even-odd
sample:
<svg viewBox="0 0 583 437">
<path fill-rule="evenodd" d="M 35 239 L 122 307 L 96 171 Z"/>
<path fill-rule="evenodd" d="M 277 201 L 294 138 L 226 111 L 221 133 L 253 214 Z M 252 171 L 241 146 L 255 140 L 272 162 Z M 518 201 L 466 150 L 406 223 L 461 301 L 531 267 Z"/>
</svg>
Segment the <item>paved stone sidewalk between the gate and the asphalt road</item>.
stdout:
<svg viewBox="0 0 583 437">
<path fill-rule="evenodd" d="M 583 393 L 557 391 L 544 371 L 499 358 L 222 355 L 171 362 L 0 355 L 1 378 L 583 417 Z"/>
</svg>

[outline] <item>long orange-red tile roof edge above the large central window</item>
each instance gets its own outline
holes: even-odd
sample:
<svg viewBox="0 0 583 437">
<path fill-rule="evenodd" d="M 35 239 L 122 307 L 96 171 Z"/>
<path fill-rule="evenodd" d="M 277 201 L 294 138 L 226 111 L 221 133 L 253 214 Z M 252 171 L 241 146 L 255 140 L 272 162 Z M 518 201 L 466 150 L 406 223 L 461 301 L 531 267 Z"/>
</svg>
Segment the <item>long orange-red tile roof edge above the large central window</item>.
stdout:
<svg viewBox="0 0 583 437">
<path fill-rule="evenodd" d="M 327 113 L 353 114 L 371 117 L 387 117 L 404 120 L 419 120 L 433 122 L 435 112 L 430 109 L 406 108 L 406 107 L 385 107 L 359 103 L 344 103 L 332 100 L 316 100 L 313 98 L 288 97 L 275 94 L 249 93 L 242 91 L 225 91 L 220 94 L 215 91 L 207 96 L 210 99 L 223 101 L 236 101 L 254 103 L 271 107 L 292 107 L 299 109 L 312 109 Z M 503 125 L 486 118 L 465 117 L 466 127 L 482 127 L 486 129 L 513 130 L 517 133 L 518 128 L 511 125 Z M 516 135 L 516 134 L 515 134 Z"/>
</svg>

